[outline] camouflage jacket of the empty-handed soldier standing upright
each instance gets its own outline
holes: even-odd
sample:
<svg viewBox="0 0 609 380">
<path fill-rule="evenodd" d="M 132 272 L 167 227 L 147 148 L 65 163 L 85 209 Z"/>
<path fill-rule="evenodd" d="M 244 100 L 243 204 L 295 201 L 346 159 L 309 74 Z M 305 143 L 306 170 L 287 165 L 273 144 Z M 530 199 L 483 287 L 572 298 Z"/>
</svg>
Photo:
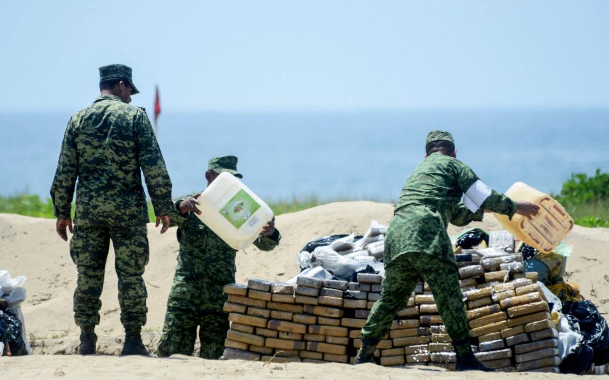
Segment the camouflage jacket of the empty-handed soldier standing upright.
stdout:
<svg viewBox="0 0 609 380">
<path fill-rule="evenodd" d="M 57 218 L 70 218 L 74 187 L 79 226 L 148 223 L 141 170 L 155 215 L 173 210 L 171 180 L 146 111 L 102 95 L 68 122 L 51 186 Z"/>
</svg>

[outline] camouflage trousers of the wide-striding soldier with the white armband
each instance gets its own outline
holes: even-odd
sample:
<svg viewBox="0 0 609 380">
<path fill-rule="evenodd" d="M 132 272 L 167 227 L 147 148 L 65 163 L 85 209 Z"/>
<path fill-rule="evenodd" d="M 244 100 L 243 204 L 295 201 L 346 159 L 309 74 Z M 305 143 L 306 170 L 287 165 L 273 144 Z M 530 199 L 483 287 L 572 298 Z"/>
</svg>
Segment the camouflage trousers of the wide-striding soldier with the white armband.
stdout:
<svg viewBox="0 0 609 380">
<path fill-rule="evenodd" d="M 429 284 L 438 313 L 453 342 L 469 339 L 457 266 L 442 258 L 416 253 L 402 254 L 385 267 L 381 297 L 362 328 L 363 339 L 376 343 L 389 333 L 393 317 L 406 306 L 421 278 Z M 455 348 L 459 350 L 460 347 Z"/>
</svg>

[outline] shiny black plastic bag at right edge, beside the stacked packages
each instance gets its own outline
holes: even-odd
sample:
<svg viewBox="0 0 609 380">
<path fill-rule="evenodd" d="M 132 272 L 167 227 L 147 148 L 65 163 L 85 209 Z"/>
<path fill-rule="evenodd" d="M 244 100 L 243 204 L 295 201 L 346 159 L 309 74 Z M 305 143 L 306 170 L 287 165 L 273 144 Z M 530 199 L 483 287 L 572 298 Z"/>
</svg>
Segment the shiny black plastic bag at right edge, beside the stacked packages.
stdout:
<svg viewBox="0 0 609 380">
<path fill-rule="evenodd" d="M 569 324 L 575 320 L 579 323 L 580 332 L 583 335 L 580 343 L 594 351 L 592 359 L 594 365 L 609 362 L 609 327 L 596 306 L 589 300 L 563 302 L 563 314 L 567 317 Z"/>
</svg>

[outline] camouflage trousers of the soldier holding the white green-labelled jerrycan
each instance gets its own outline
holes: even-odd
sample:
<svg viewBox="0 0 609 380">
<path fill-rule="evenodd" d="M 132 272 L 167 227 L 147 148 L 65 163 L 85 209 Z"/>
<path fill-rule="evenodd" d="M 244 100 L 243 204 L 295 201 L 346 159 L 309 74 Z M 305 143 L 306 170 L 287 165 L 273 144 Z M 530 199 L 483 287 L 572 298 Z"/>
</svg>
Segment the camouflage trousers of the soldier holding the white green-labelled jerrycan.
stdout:
<svg viewBox="0 0 609 380">
<path fill-rule="evenodd" d="M 222 308 L 227 295 L 222 292 L 226 282 L 213 277 L 177 272 L 167 300 L 163 336 L 157 347 L 160 357 L 173 354 L 192 355 L 199 327 L 199 356 L 218 359 L 224 351 L 229 328 L 228 314 Z"/>
</svg>

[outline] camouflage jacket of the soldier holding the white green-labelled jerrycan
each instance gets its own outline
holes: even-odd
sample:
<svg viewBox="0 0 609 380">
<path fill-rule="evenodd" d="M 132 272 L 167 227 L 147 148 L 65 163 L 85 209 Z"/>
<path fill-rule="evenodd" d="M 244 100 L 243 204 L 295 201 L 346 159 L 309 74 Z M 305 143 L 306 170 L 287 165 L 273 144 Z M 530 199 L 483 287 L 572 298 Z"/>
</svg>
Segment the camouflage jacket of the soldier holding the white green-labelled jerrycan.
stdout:
<svg viewBox="0 0 609 380">
<path fill-rule="evenodd" d="M 171 225 L 178 226 L 177 238 L 180 242 L 176 278 L 185 281 L 203 278 L 221 285 L 233 283 L 237 250 L 205 226 L 195 213 L 180 214 L 180 203 L 190 197 L 178 199 L 171 214 Z M 275 229 L 272 237 L 260 235 L 254 245 L 261 250 L 272 250 L 280 240 L 281 234 Z"/>
</svg>

